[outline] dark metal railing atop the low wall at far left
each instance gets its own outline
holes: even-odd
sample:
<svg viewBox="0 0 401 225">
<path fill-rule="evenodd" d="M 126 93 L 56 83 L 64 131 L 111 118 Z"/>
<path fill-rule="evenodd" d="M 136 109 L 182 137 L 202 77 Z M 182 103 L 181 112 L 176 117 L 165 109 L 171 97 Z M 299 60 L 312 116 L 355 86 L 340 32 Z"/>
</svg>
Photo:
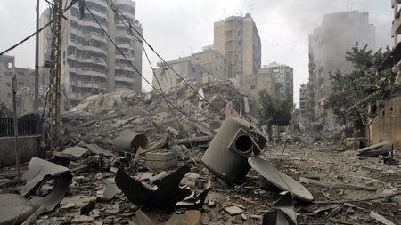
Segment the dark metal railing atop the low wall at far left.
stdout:
<svg viewBox="0 0 401 225">
<path fill-rule="evenodd" d="M 33 119 L 18 119 L 18 135 L 34 135 L 37 133 L 37 121 Z M 14 119 L 0 118 L 0 137 L 14 136 Z"/>
</svg>

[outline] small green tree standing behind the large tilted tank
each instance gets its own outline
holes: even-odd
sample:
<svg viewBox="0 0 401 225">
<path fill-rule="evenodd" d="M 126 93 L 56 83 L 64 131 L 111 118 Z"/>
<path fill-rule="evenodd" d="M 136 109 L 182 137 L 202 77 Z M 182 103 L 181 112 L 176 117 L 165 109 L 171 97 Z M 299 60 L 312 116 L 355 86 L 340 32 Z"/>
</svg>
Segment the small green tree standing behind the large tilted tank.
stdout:
<svg viewBox="0 0 401 225">
<path fill-rule="evenodd" d="M 292 96 L 288 96 L 286 100 L 272 97 L 267 91 L 259 92 L 258 110 L 260 123 L 267 126 L 269 139 L 273 136 L 273 125 L 281 126 L 290 125 L 291 112 L 293 108 Z M 279 129 L 278 129 L 279 130 Z M 277 137 L 280 139 L 280 132 L 277 131 Z"/>
</svg>

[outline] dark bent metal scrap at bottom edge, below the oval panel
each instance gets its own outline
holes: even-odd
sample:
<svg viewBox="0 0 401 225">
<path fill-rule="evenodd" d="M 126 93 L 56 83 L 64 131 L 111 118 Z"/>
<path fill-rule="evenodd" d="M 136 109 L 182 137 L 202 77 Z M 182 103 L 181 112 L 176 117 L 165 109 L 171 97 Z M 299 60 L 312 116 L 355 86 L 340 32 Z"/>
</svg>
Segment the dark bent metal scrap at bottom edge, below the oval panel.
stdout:
<svg viewBox="0 0 401 225">
<path fill-rule="evenodd" d="M 262 225 L 297 225 L 297 213 L 291 192 L 286 191 L 273 205 L 274 211 L 263 214 Z"/>
</svg>

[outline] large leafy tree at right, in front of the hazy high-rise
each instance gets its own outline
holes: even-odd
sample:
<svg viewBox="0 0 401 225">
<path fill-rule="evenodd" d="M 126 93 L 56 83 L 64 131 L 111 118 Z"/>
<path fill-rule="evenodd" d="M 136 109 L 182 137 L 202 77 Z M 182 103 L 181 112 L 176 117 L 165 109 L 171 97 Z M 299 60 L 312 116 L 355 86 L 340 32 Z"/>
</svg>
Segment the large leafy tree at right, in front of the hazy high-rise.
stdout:
<svg viewBox="0 0 401 225">
<path fill-rule="evenodd" d="M 345 126 L 347 137 L 352 133 L 364 136 L 367 118 L 376 116 L 375 112 L 368 113 L 368 105 L 392 94 L 391 86 L 396 74 L 391 68 L 378 72 L 389 52 L 388 47 L 384 52 L 380 49 L 372 53 L 372 50 L 367 50 L 367 44 L 359 48 L 356 43 L 345 55 L 353 70 L 348 74 L 336 71 L 329 75 L 332 89 L 324 108 L 331 109 L 340 124 Z"/>
</svg>

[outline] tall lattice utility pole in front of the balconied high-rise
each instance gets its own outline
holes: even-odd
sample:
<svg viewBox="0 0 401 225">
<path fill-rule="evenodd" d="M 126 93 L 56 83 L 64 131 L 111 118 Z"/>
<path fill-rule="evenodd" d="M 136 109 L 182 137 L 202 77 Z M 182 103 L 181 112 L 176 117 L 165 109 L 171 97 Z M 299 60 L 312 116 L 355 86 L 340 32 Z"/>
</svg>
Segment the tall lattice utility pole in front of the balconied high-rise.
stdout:
<svg viewBox="0 0 401 225">
<path fill-rule="evenodd" d="M 60 100 L 61 100 L 61 20 L 62 0 L 53 0 L 53 36 L 49 86 L 49 130 L 47 141 L 53 150 L 60 141 Z"/>
</svg>

